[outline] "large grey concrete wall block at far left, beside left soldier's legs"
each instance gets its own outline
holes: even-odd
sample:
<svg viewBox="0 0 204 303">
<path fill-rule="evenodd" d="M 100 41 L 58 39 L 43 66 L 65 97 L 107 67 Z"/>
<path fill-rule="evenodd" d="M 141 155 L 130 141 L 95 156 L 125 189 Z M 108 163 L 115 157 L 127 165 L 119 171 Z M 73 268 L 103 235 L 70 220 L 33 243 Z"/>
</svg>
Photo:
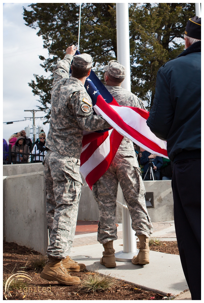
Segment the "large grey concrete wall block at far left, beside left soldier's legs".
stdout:
<svg viewBox="0 0 204 303">
<path fill-rule="evenodd" d="M 4 240 L 45 254 L 48 230 L 42 172 L 5 177 Z"/>
</svg>

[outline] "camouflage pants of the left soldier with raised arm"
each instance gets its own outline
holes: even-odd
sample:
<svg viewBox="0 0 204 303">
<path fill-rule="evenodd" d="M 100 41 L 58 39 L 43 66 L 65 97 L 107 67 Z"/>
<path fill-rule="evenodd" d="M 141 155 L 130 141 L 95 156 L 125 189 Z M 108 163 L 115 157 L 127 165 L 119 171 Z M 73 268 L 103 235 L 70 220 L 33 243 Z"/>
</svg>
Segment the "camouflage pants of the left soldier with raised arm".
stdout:
<svg viewBox="0 0 204 303">
<path fill-rule="evenodd" d="M 75 235 L 82 179 L 80 161 L 48 151 L 44 161 L 47 221 L 50 245 L 47 255 L 69 255 Z"/>
</svg>

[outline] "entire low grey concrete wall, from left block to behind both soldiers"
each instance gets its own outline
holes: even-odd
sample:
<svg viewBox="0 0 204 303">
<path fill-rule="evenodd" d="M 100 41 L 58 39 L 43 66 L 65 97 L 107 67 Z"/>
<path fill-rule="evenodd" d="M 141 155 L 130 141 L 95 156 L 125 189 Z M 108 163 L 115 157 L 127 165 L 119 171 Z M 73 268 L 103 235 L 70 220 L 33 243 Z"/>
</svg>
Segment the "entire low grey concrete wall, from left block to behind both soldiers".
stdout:
<svg viewBox="0 0 204 303">
<path fill-rule="evenodd" d="M 3 165 L 3 237 L 7 242 L 33 248 L 45 254 L 48 230 L 45 209 L 45 187 L 41 163 Z M 37 172 L 30 172 L 34 170 Z M 19 174 L 19 172 L 26 172 Z M 9 175 L 10 174 L 10 175 Z M 12 174 L 12 175 L 11 175 Z M 83 178 L 82 178 L 83 179 Z M 78 220 L 99 220 L 92 192 L 85 183 L 79 201 Z M 153 192 L 154 208 L 148 208 L 152 222 L 173 220 L 171 181 L 144 181 L 146 192 Z M 119 186 L 117 201 L 122 202 Z M 122 223 L 122 207 L 117 205 L 116 222 Z"/>
</svg>

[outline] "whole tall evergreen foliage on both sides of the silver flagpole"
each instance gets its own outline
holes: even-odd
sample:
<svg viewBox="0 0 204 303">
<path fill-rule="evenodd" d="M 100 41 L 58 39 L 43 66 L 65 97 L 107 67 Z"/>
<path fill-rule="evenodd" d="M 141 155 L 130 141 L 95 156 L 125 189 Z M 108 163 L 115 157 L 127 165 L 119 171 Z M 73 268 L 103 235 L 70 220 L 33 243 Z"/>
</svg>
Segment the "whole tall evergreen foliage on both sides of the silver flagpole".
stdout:
<svg viewBox="0 0 204 303">
<path fill-rule="evenodd" d="M 24 8 L 26 25 L 38 29 L 49 58 L 39 56 L 41 66 L 52 72 L 63 59 L 69 45 L 78 43 L 79 5 L 75 3 L 35 3 Z M 83 3 L 81 10 L 80 51 L 94 58 L 94 71 L 103 81 L 103 66 L 117 58 L 115 3 Z M 156 73 L 169 59 L 184 49 L 182 38 L 187 21 L 195 15 L 192 3 L 130 4 L 130 59 L 132 92 L 150 109 L 156 85 Z M 28 85 L 39 97 L 40 109 L 50 117 L 52 75 L 35 75 Z M 46 123 L 45 122 L 45 123 Z"/>
</svg>

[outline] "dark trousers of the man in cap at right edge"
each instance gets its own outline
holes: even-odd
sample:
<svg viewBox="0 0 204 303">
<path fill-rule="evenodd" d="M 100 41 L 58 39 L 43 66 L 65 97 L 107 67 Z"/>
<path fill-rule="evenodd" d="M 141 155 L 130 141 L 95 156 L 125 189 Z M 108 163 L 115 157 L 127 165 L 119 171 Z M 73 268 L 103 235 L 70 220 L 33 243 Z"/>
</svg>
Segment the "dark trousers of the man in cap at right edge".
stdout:
<svg viewBox="0 0 204 303">
<path fill-rule="evenodd" d="M 174 222 L 192 300 L 201 300 L 201 159 L 174 163 Z"/>
</svg>

